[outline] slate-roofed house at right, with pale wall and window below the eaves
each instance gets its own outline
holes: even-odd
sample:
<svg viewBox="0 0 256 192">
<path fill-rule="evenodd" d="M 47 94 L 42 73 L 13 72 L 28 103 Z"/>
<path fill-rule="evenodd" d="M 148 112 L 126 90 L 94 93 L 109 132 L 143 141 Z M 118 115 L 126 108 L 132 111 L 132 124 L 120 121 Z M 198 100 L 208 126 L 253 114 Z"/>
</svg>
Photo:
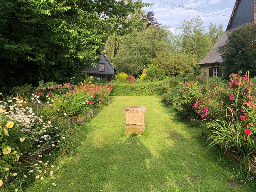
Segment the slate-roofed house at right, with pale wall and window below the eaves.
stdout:
<svg viewBox="0 0 256 192">
<path fill-rule="evenodd" d="M 228 33 L 245 23 L 253 23 L 254 21 L 256 21 L 256 0 L 236 0 L 225 34 L 220 37 L 204 59 L 199 62 L 203 67 L 203 73 L 209 77 L 220 75 L 219 65 L 223 62 L 223 59 L 216 50 L 226 43 Z"/>
</svg>

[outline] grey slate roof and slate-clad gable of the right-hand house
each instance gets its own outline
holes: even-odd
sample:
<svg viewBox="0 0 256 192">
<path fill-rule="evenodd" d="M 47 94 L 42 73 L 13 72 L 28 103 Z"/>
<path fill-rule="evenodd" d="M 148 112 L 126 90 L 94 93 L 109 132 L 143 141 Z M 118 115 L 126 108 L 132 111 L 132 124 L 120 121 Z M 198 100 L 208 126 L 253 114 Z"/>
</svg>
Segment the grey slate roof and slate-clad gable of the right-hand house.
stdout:
<svg viewBox="0 0 256 192">
<path fill-rule="evenodd" d="M 219 63 L 222 62 L 220 54 L 216 51 L 220 46 L 224 45 L 228 39 L 228 33 L 233 32 L 239 26 L 254 21 L 254 0 L 236 0 L 233 12 L 230 16 L 226 32 L 220 37 L 219 41 L 205 55 L 199 64 Z"/>
</svg>

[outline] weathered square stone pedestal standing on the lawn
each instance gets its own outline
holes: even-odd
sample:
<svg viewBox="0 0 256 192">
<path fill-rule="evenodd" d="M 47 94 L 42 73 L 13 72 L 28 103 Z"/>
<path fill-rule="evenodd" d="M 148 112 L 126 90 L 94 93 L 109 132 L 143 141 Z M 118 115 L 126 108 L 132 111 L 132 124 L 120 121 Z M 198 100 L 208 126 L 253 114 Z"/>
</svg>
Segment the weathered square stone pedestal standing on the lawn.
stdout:
<svg viewBox="0 0 256 192">
<path fill-rule="evenodd" d="M 123 112 L 125 114 L 126 127 L 125 133 L 142 133 L 145 131 L 144 112 L 147 111 L 145 107 L 130 108 L 125 107 Z"/>
</svg>

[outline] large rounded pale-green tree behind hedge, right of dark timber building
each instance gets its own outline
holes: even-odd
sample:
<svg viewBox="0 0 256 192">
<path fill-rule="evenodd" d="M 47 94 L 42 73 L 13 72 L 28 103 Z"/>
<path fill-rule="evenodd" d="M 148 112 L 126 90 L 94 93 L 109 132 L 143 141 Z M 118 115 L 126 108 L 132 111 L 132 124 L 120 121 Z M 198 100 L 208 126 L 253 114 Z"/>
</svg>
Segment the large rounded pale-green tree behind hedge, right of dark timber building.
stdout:
<svg viewBox="0 0 256 192">
<path fill-rule="evenodd" d="M 169 47 L 169 34 L 167 28 L 152 25 L 144 31 L 124 36 L 113 57 L 114 66 L 118 71 L 138 78 L 144 65 L 151 64 L 156 51 Z"/>
</svg>

